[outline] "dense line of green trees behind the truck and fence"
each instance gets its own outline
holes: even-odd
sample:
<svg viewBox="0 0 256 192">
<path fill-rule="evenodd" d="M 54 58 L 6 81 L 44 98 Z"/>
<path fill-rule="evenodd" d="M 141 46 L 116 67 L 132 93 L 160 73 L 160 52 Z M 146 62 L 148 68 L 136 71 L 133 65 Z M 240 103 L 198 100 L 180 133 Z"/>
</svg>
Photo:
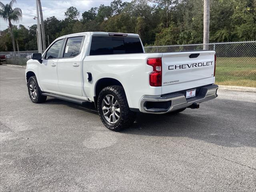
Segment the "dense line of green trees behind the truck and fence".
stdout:
<svg viewBox="0 0 256 192">
<path fill-rule="evenodd" d="M 54 16 L 44 20 L 45 33 L 50 43 L 59 36 L 82 31 L 138 33 L 146 46 L 203 42 L 203 0 L 123 1 L 112 0 L 110 6 L 92 7 L 82 14 L 81 20 L 78 10 L 71 7 L 64 20 Z M 210 42 L 255 40 L 256 0 L 210 0 L 210 8 Z M 20 50 L 36 50 L 36 26 L 27 30 L 22 25 L 12 25 L 12 33 L 10 27 L 2 30 L 0 51 L 12 51 L 17 40 Z"/>
</svg>

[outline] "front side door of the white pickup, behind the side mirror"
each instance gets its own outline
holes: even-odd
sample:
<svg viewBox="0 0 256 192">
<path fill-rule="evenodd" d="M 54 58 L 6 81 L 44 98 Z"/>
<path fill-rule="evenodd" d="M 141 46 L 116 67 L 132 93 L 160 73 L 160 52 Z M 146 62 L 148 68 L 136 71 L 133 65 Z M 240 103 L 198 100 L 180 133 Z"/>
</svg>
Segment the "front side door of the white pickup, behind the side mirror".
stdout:
<svg viewBox="0 0 256 192">
<path fill-rule="evenodd" d="M 56 41 L 44 54 L 38 64 L 38 77 L 44 91 L 60 92 L 58 87 L 57 64 L 64 39 Z"/>
</svg>

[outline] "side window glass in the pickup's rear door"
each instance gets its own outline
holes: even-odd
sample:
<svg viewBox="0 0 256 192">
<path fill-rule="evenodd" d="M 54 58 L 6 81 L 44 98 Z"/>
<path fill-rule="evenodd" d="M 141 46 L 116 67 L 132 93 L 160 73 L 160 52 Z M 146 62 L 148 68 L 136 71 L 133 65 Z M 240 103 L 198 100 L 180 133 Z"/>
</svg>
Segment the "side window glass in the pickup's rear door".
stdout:
<svg viewBox="0 0 256 192">
<path fill-rule="evenodd" d="M 75 57 L 80 53 L 83 37 L 70 37 L 66 42 L 63 57 Z"/>
</svg>

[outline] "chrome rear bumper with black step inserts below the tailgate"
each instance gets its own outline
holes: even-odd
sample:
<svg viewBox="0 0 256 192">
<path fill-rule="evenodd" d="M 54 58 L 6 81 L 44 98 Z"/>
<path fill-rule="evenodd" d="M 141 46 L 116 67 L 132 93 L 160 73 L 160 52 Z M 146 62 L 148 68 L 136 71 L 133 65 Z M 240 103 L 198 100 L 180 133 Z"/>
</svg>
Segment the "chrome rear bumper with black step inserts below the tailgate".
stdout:
<svg viewBox="0 0 256 192">
<path fill-rule="evenodd" d="M 216 98 L 218 96 L 217 89 L 218 85 L 202 87 L 196 97 L 190 99 L 186 99 L 186 96 L 182 93 L 174 93 L 161 97 L 144 96 L 140 100 L 140 111 L 153 114 L 172 112 L 192 106 L 194 103 L 198 104 Z"/>
</svg>

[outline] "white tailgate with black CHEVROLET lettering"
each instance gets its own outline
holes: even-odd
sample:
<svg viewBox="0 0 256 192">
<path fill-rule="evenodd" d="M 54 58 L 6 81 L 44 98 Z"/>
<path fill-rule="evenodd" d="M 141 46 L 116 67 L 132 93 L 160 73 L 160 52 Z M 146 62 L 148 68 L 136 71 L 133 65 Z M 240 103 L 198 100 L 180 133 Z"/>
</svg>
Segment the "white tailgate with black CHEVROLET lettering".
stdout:
<svg viewBox="0 0 256 192">
<path fill-rule="evenodd" d="M 162 55 L 162 94 L 214 83 L 215 51 Z"/>
</svg>

